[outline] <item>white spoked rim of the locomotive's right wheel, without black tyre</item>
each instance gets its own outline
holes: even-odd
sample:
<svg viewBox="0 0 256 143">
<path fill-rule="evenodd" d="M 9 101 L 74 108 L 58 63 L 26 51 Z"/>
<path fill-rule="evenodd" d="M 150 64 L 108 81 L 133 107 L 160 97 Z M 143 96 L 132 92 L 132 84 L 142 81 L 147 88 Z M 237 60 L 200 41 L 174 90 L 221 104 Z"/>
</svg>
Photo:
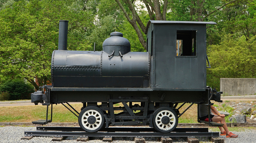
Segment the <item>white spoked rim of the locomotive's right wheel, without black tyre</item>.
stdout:
<svg viewBox="0 0 256 143">
<path fill-rule="evenodd" d="M 170 119 L 170 122 L 168 124 L 163 124 L 161 121 L 163 117 L 168 117 Z M 157 127 L 160 130 L 167 131 L 174 127 L 176 118 L 171 111 L 162 110 L 157 114 L 157 116 L 155 118 L 155 122 L 156 122 Z"/>
</svg>

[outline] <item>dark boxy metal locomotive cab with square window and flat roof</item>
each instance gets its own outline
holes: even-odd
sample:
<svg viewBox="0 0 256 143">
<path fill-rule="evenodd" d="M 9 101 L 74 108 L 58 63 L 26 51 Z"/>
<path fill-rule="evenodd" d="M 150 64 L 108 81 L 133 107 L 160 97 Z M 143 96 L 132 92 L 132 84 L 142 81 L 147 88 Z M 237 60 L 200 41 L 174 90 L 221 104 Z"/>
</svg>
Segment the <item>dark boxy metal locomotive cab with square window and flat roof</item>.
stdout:
<svg viewBox="0 0 256 143">
<path fill-rule="evenodd" d="M 147 51 L 154 90 L 204 91 L 206 24 L 215 22 L 149 21 Z"/>
</svg>

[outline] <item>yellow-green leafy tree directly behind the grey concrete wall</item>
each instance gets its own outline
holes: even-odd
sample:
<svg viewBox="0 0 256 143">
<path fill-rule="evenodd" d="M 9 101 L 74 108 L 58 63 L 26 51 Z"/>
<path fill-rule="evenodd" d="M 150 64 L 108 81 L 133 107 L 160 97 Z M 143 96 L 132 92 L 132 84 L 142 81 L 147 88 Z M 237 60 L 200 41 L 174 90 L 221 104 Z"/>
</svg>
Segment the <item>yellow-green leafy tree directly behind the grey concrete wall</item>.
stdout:
<svg viewBox="0 0 256 143">
<path fill-rule="evenodd" d="M 207 70 L 207 85 L 220 88 L 220 78 L 256 77 L 256 36 L 223 35 L 219 45 L 209 45 L 208 58 L 211 68 Z M 252 50 L 253 49 L 253 50 Z"/>
</svg>

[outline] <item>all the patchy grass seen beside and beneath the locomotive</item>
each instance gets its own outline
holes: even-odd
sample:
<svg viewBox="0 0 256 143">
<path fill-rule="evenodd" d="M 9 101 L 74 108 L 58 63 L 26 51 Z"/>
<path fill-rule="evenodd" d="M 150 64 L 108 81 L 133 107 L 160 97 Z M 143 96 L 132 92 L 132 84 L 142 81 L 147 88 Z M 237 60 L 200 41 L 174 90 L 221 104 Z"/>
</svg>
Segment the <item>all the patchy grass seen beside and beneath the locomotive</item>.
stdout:
<svg viewBox="0 0 256 143">
<path fill-rule="evenodd" d="M 181 109 L 186 109 L 190 104 L 185 104 Z M 79 112 L 82 104 L 72 104 L 72 106 Z M 122 106 L 122 104 L 115 104 L 115 107 Z M 197 123 L 197 105 L 193 105 L 180 118 L 180 123 Z M 0 107 L 0 122 L 32 122 L 38 119 L 46 119 L 46 106 L 31 105 L 31 106 L 12 106 Z M 51 111 L 51 108 L 49 108 Z M 116 113 L 118 111 L 115 111 Z M 137 111 L 139 112 L 139 111 Z M 48 119 L 51 118 L 50 113 Z M 77 122 L 78 118 L 66 109 L 63 105 L 53 105 L 53 122 Z"/>
</svg>

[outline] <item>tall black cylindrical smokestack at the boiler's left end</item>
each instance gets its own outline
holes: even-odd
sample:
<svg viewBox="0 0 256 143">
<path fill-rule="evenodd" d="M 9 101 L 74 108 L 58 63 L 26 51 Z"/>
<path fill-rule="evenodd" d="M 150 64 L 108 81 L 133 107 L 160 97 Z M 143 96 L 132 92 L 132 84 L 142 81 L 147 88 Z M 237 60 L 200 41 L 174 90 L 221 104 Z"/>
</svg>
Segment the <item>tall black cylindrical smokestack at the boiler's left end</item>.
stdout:
<svg viewBox="0 0 256 143">
<path fill-rule="evenodd" d="M 68 41 L 68 22 L 67 20 L 59 21 L 59 45 L 58 50 L 67 50 Z"/>
</svg>

